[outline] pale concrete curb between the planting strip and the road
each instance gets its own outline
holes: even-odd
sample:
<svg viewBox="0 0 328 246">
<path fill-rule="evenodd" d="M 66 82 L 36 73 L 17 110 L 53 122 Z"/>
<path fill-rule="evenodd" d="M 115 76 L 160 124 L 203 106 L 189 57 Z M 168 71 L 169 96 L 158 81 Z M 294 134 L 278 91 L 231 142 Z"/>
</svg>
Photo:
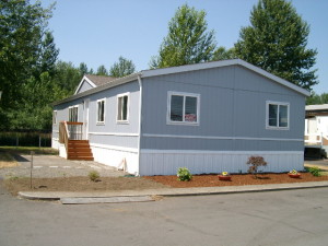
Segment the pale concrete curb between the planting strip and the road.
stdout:
<svg viewBox="0 0 328 246">
<path fill-rule="evenodd" d="M 121 190 L 103 192 L 40 192 L 40 191 L 20 191 L 19 197 L 27 200 L 54 201 L 62 198 L 110 198 L 110 197 L 140 197 L 140 196 L 207 196 L 207 195 L 229 195 L 243 192 L 265 192 L 292 189 L 309 189 L 328 187 L 328 181 L 291 183 L 291 184 L 270 184 L 250 186 L 226 186 L 226 187 L 202 187 L 202 188 L 168 188 L 150 190 Z"/>
</svg>

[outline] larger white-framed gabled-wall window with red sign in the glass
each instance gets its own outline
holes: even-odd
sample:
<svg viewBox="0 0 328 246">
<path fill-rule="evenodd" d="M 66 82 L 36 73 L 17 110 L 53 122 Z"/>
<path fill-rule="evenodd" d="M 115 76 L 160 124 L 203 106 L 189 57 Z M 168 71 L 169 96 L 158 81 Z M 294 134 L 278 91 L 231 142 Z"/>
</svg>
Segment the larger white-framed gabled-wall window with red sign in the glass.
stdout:
<svg viewBox="0 0 328 246">
<path fill-rule="evenodd" d="M 168 92 L 167 124 L 198 125 L 200 95 Z"/>
</svg>

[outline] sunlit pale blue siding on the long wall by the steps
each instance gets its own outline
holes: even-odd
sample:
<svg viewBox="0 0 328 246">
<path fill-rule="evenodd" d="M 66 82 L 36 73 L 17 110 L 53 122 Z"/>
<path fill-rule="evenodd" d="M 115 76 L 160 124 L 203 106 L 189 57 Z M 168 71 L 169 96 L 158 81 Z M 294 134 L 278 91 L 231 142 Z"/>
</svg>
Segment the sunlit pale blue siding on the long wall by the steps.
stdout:
<svg viewBox="0 0 328 246">
<path fill-rule="evenodd" d="M 129 122 L 117 122 L 117 95 L 129 93 Z M 139 131 L 139 84 L 137 81 L 112 87 L 69 103 L 55 106 L 57 120 L 68 120 L 69 107 L 79 105 L 79 121 L 83 121 L 84 101 L 90 99 L 89 104 L 89 132 L 90 142 L 95 144 L 118 145 L 127 148 L 138 147 Z M 98 125 L 97 101 L 105 98 L 105 124 Z M 58 131 L 58 125 L 54 125 L 52 131 Z M 104 133 L 104 134 L 102 134 Z M 112 136 L 108 136 L 112 133 Z M 132 136 L 129 136 L 132 134 Z"/>
</svg>

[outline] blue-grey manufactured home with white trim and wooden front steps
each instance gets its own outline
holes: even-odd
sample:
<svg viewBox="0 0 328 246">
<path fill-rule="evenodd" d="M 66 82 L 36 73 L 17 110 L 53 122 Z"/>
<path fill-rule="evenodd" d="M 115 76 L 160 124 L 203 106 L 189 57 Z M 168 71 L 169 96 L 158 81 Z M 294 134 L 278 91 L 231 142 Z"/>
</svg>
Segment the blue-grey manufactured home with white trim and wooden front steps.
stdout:
<svg viewBox="0 0 328 246">
<path fill-rule="evenodd" d="M 300 171 L 308 95 L 241 59 L 84 75 L 54 103 L 52 147 L 136 175 L 245 173 L 251 155 L 266 172 Z"/>
</svg>

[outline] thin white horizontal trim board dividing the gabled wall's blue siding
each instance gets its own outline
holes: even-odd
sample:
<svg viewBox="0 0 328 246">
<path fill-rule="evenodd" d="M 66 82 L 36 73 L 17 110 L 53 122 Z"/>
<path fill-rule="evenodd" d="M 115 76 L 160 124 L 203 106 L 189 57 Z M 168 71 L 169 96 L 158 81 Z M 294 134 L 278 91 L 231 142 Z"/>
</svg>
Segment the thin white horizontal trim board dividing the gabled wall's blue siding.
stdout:
<svg viewBox="0 0 328 246">
<path fill-rule="evenodd" d="M 215 136 L 184 136 L 184 134 L 150 134 L 143 133 L 145 138 L 180 138 L 180 139 L 216 139 L 216 140 L 251 140 L 251 141 L 304 141 L 304 139 L 278 139 L 278 138 L 249 138 L 249 137 L 215 137 Z"/>
</svg>

